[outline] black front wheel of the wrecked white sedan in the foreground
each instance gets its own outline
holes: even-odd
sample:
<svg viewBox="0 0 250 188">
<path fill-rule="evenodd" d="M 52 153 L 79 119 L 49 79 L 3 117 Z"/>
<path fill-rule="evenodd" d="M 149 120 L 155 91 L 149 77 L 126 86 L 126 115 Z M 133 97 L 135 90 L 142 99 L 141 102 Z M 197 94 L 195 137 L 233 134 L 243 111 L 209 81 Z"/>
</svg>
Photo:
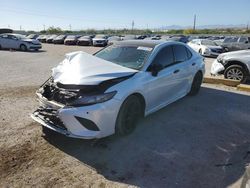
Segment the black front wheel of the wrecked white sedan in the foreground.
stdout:
<svg viewBox="0 0 250 188">
<path fill-rule="evenodd" d="M 118 135 L 127 135 L 134 131 L 138 120 L 142 117 L 142 103 L 140 99 L 131 95 L 122 104 L 115 125 Z"/>
</svg>

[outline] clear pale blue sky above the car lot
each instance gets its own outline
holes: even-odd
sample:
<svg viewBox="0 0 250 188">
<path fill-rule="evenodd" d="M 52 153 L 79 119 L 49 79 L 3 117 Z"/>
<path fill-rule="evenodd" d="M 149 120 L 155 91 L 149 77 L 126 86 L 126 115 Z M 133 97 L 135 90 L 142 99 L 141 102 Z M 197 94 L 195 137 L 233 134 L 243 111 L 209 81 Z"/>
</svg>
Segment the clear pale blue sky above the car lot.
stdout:
<svg viewBox="0 0 250 188">
<path fill-rule="evenodd" d="M 0 0 L 0 28 L 154 29 L 250 23 L 250 0 Z"/>
</svg>

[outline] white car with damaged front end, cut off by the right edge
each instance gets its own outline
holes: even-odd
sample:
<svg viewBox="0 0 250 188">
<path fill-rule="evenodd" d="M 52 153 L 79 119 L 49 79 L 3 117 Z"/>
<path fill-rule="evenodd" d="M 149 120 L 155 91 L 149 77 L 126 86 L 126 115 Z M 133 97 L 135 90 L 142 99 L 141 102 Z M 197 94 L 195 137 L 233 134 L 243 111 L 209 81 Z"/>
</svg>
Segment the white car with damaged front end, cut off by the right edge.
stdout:
<svg viewBox="0 0 250 188">
<path fill-rule="evenodd" d="M 223 53 L 211 67 L 212 75 L 223 74 L 227 79 L 245 83 L 250 76 L 250 50 Z"/>
</svg>

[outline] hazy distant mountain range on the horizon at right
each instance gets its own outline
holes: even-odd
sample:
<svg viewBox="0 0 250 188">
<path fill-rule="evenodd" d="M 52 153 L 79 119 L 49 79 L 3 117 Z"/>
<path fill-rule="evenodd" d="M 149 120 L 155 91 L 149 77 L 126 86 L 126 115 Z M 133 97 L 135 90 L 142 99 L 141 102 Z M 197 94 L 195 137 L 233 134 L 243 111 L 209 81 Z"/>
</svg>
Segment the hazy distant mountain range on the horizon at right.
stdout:
<svg viewBox="0 0 250 188">
<path fill-rule="evenodd" d="M 188 29 L 193 28 L 193 26 L 180 26 L 180 25 L 169 25 L 169 26 L 163 26 L 158 28 L 159 30 L 178 30 L 178 29 Z M 246 25 L 239 24 L 239 25 L 197 25 L 197 29 L 227 29 L 227 28 L 246 28 Z"/>
</svg>

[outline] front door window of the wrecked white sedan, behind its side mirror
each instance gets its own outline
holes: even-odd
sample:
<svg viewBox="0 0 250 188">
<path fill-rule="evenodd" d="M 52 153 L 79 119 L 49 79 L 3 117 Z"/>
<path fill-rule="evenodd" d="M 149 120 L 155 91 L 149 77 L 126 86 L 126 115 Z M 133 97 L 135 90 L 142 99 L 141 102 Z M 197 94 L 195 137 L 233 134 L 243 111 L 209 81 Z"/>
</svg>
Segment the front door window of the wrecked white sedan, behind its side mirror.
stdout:
<svg viewBox="0 0 250 188">
<path fill-rule="evenodd" d="M 163 67 L 167 67 L 174 63 L 174 55 L 171 46 L 167 46 L 161 49 L 156 55 L 154 62 L 162 65 Z"/>
</svg>

